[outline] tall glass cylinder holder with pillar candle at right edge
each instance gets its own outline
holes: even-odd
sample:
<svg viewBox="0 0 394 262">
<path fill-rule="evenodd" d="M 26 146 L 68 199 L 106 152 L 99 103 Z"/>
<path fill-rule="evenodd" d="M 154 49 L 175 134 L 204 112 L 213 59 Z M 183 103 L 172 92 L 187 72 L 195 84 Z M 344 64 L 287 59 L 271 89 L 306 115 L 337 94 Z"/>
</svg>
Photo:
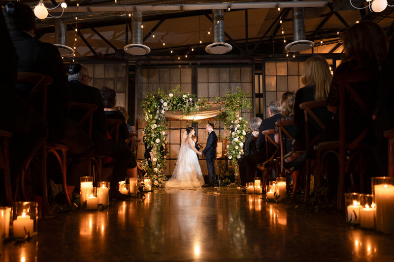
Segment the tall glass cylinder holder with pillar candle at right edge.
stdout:
<svg viewBox="0 0 394 262">
<path fill-rule="evenodd" d="M 394 232 L 394 177 L 372 177 L 376 230 Z"/>
</svg>

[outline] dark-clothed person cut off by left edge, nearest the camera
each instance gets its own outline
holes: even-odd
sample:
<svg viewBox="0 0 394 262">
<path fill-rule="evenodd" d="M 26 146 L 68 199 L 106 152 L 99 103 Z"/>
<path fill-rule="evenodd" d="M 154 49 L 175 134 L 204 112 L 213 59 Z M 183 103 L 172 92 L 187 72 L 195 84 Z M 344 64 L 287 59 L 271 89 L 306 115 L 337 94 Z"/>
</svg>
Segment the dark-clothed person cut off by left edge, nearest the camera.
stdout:
<svg viewBox="0 0 394 262">
<path fill-rule="evenodd" d="M 15 92 L 18 57 L 3 12 L 0 12 L 0 35 L 1 50 L 7 50 L 0 63 L 0 129 L 13 135 L 9 146 L 12 184 L 29 159 L 44 145 L 48 128 L 44 118 Z"/>
</svg>

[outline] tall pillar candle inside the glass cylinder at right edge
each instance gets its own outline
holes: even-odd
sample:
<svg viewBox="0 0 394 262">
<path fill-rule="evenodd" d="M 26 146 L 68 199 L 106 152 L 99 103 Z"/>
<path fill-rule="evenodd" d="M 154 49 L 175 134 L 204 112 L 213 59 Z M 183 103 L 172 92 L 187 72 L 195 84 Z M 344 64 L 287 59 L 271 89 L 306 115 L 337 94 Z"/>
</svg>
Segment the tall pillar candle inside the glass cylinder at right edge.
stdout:
<svg viewBox="0 0 394 262">
<path fill-rule="evenodd" d="M 375 185 L 376 229 L 394 232 L 394 186 Z"/>
</svg>

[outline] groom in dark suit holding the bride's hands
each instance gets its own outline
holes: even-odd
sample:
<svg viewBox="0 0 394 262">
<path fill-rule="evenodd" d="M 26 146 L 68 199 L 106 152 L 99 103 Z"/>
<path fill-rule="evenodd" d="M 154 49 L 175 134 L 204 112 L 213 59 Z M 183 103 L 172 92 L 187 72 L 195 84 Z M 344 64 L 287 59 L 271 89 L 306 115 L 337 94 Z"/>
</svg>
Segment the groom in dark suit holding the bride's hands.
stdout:
<svg viewBox="0 0 394 262">
<path fill-rule="evenodd" d="M 215 169 L 213 167 L 213 160 L 216 158 L 216 146 L 218 145 L 218 137 L 213 131 L 212 123 L 207 124 L 205 129 L 208 132 L 209 136 L 206 141 L 206 146 L 204 150 L 202 150 L 202 153 L 206 158 L 206 167 L 208 169 L 208 175 L 209 175 L 208 186 L 214 186 L 216 185 L 216 180 L 215 180 Z"/>
</svg>

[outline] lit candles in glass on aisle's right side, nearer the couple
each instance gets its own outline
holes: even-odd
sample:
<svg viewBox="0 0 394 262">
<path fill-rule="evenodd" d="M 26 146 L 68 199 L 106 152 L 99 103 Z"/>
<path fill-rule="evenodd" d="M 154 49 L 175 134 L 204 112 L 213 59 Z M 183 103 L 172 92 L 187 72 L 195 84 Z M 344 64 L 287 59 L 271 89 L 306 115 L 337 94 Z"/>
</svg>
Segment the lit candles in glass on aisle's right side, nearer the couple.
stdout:
<svg viewBox="0 0 394 262">
<path fill-rule="evenodd" d="M 260 177 L 255 177 L 255 182 L 246 183 L 247 194 L 263 194 Z M 276 177 L 276 181 L 269 181 L 265 186 L 265 197 L 267 200 L 282 200 L 286 198 L 286 177 Z"/>
</svg>

